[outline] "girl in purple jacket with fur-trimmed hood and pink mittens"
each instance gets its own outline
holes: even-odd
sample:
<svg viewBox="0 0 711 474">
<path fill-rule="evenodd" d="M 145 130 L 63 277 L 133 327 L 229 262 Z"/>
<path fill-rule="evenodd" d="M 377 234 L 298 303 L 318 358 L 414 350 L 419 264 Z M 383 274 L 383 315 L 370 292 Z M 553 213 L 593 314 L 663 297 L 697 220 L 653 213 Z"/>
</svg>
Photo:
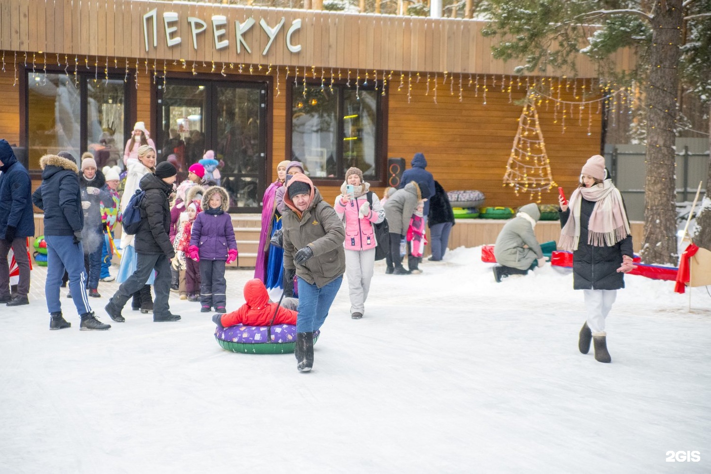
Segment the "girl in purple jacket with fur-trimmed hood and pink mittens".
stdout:
<svg viewBox="0 0 711 474">
<path fill-rule="evenodd" d="M 200 262 L 202 313 L 209 313 L 211 308 L 218 313 L 227 312 L 225 264 L 237 259 L 235 229 L 227 212 L 229 203 L 224 188 L 211 186 L 203 195 L 203 212 L 193 222 L 188 257 Z"/>
</svg>

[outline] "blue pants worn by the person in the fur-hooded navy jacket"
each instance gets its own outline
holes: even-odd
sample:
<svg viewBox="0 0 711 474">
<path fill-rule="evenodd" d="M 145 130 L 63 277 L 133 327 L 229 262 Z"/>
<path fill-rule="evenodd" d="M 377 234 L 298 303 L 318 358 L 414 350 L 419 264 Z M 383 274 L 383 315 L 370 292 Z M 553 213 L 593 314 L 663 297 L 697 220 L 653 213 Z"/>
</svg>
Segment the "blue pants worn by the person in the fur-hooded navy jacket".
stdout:
<svg viewBox="0 0 711 474">
<path fill-rule="evenodd" d="M 69 291 L 72 293 L 74 306 L 81 316 L 90 313 L 91 306 L 87 298 L 87 274 L 84 270 L 84 249 L 82 243 L 74 243 L 72 235 L 46 235 L 47 242 L 47 279 L 45 298 L 50 313 L 60 313 L 62 303 L 59 300 L 59 286 L 62 284 L 64 270 L 69 274 Z"/>
</svg>

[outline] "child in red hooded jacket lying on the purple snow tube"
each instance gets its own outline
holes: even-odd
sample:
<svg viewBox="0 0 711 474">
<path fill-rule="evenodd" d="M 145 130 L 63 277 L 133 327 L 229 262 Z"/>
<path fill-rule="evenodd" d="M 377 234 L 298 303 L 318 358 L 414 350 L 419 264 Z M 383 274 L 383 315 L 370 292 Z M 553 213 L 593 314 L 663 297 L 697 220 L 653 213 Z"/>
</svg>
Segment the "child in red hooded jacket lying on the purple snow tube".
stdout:
<svg viewBox="0 0 711 474">
<path fill-rule="evenodd" d="M 278 309 L 277 306 L 279 306 Z M 232 313 L 215 314 L 213 323 L 221 328 L 237 324 L 245 326 L 296 325 L 297 308 L 299 308 L 299 300 L 296 298 L 282 298 L 280 305 L 269 301 L 269 293 L 267 293 L 264 282 L 254 278 L 245 284 L 245 304 Z M 274 316 L 274 311 L 277 312 L 276 316 Z"/>
</svg>

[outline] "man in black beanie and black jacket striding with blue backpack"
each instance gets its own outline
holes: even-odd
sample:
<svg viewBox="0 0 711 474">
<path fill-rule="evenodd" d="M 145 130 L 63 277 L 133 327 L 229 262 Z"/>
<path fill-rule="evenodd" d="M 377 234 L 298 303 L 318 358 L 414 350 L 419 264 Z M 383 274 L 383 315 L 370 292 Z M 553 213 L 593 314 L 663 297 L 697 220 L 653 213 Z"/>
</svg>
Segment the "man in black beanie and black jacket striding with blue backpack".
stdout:
<svg viewBox="0 0 711 474">
<path fill-rule="evenodd" d="M 176 181 L 175 166 L 163 161 L 156 166 L 155 173 L 148 173 L 141 178 L 139 186 L 145 191 L 141 200 L 141 219 L 144 223 L 136 232 L 136 271 L 124 281 L 106 305 L 106 312 L 118 323 L 126 321 L 121 314 L 124 305 L 133 294 L 141 289 L 151 271 L 156 271 L 154 290 L 156 299 L 153 306 L 153 321 L 179 321 L 180 316 L 172 314 L 168 304 L 171 286 L 170 260 L 175 257 L 175 250 L 169 237 L 171 210 L 169 196 Z"/>
</svg>

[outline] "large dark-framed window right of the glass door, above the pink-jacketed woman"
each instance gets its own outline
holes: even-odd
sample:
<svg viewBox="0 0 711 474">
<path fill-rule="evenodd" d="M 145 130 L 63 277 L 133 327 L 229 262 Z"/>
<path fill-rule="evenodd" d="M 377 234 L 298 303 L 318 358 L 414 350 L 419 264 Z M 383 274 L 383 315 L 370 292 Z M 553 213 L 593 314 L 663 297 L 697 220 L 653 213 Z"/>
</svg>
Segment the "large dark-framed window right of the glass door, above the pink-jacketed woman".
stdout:
<svg viewBox="0 0 711 474">
<path fill-rule="evenodd" d="M 356 166 L 369 181 L 382 178 L 377 90 L 333 84 L 292 84 L 292 159 L 311 178 L 341 181 Z"/>
</svg>

